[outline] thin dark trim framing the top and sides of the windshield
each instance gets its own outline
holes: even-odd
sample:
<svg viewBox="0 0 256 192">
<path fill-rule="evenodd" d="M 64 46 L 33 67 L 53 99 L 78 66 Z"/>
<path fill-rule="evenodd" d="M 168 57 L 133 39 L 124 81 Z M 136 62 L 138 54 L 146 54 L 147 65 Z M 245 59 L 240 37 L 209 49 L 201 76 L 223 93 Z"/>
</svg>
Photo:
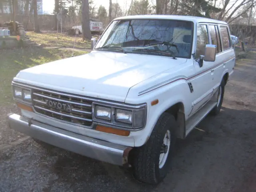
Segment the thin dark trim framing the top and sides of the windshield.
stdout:
<svg viewBox="0 0 256 192">
<path fill-rule="evenodd" d="M 102 33 L 102 35 L 100 36 L 100 38 L 98 39 L 95 47 L 97 46 L 98 42 L 100 42 L 102 36 L 105 34 L 105 32 L 108 30 L 108 28 L 111 26 L 111 24 L 113 22 L 116 21 L 132 21 L 132 20 L 168 20 L 168 21 L 180 21 L 180 22 L 189 22 L 191 23 L 192 27 L 191 27 L 191 46 L 190 46 L 190 52 L 189 52 L 189 56 L 188 57 L 182 57 L 182 56 L 176 56 L 176 58 L 186 58 L 186 59 L 191 59 L 192 57 L 192 49 L 193 49 L 193 40 L 194 40 L 194 22 L 193 21 L 188 21 L 188 20 L 181 20 L 181 19 L 158 19 L 158 18 L 136 18 L 136 19 L 114 19 L 110 22 L 110 24 L 108 24 L 108 26 L 106 27 L 106 29 L 104 30 L 104 32 Z M 95 48 L 93 48 L 93 50 L 95 50 Z M 100 50 L 97 50 L 100 51 Z M 127 52 L 127 51 L 126 51 Z M 130 52 L 127 52 L 130 53 Z M 134 52 L 132 52 L 134 53 Z M 138 54 L 138 53 L 134 53 L 134 54 Z"/>
</svg>

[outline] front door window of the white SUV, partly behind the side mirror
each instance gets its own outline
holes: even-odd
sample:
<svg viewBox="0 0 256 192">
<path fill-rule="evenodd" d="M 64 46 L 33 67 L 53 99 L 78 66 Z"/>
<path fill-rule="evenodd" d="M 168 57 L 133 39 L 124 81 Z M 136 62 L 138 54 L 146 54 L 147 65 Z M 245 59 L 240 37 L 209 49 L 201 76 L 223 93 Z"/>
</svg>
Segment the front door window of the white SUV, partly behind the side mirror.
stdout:
<svg viewBox="0 0 256 192">
<path fill-rule="evenodd" d="M 208 31 L 206 25 L 198 25 L 197 27 L 197 39 L 196 39 L 196 58 L 200 58 L 200 55 L 204 55 L 205 46 L 209 44 Z"/>
</svg>

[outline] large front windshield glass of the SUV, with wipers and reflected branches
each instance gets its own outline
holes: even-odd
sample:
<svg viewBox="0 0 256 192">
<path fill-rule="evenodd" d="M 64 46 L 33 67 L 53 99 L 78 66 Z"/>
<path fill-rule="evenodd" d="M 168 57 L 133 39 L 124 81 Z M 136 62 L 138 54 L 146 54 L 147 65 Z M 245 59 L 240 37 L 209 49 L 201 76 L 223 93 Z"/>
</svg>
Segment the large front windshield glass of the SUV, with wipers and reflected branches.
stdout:
<svg viewBox="0 0 256 192">
<path fill-rule="evenodd" d="M 95 48 L 117 51 L 111 48 L 114 47 L 135 54 L 166 56 L 161 53 L 169 53 L 180 58 L 190 58 L 192 34 L 193 23 L 188 21 L 116 20 L 110 24 Z"/>
</svg>

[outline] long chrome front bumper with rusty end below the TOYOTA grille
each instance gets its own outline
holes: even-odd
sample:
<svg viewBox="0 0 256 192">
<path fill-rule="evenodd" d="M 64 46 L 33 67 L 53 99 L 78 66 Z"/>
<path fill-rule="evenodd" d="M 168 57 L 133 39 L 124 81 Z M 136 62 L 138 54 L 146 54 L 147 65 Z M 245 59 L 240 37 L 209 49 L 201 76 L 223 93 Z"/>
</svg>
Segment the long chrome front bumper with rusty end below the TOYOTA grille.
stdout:
<svg viewBox="0 0 256 192">
<path fill-rule="evenodd" d="M 9 116 L 9 126 L 53 146 L 115 165 L 126 164 L 128 153 L 132 149 L 62 130 L 17 114 Z"/>
</svg>

